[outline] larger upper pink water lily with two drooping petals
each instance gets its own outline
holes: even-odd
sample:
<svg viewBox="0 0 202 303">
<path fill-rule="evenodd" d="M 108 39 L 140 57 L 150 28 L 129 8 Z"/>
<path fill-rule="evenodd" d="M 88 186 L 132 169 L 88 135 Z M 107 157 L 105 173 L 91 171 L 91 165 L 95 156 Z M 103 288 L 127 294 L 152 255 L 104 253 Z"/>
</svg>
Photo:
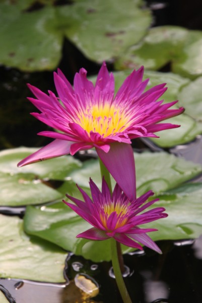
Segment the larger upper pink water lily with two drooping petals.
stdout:
<svg viewBox="0 0 202 303">
<path fill-rule="evenodd" d="M 18 166 L 62 155 L 74 155 L 79 150 L 96 148 L 97 154 L 122 190 L 135 198 L 136 176 L 131 139 L 157 137 L 154 132 L 179 125 L 159 123 L 181 114 L 184 109 L 169 109 L 177 101 L 162 104 L 157 101 L 165 92 L 165 83 L 144 92 L 149 79 L 143 81 L 143 67 L 134 70 L 114 96 L 114 77 L 103 63 L 95 86 L 81 69 L 74 78 L 74 89 L 60 70 L 54 73 L 58 97 L 28 84 L 36 96 L 28 98 L 41 113 L 34 117 L 57 131 L 42 131 L 39 135 L 54 138 Z M 125 179 L 125 173 L 128 178 Z"/>
</svg>

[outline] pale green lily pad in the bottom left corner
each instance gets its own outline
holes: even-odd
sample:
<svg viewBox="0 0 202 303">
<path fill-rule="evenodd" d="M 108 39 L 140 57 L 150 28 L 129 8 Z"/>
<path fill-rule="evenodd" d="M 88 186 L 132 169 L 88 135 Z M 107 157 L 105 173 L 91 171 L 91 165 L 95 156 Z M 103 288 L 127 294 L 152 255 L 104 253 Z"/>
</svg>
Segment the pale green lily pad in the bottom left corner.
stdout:
<svg viewBox="0 0 202 303">
<path fill-rule="evenodd" d="M 66 252 L 58 246 L 27 236 L 23 220 L 1 215 L 0 276 L 44 282 L 64 282 Z"/>
</svg>

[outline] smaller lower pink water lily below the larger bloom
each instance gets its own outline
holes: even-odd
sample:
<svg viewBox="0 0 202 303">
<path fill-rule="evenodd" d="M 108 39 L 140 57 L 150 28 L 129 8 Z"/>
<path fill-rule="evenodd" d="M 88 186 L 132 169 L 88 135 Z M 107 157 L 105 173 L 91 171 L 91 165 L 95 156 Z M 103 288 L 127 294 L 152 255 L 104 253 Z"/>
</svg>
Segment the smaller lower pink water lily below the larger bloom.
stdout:
<svg viewBox="0 0 202 303">
<path fill-rule="evenodd" d="M 111 194 L 104 178 L 102 191 L 90 179 L 92 199 L 83 189 L 79 186 L 78 188 L 84 201 L 67 194 L 66 196 L 75 204 L 65 200 L 64 203 L 93 227 L 77 235 L 77 238 L 106 240 L 113 237 L 126 246 L 143 249 L 139 244 L 142 243 L 161 254 L 160 248 L 147 235 L 147 232 L 157 229 L 142 228 L 145 223 L 167 217 L 162 207 L 144 212 L 158 200 L 154 199 L 146 203 L 146 200 L 154 194 L 151 190 L 137 199 L 129 200 L 118 184 Z"/>
</svg>

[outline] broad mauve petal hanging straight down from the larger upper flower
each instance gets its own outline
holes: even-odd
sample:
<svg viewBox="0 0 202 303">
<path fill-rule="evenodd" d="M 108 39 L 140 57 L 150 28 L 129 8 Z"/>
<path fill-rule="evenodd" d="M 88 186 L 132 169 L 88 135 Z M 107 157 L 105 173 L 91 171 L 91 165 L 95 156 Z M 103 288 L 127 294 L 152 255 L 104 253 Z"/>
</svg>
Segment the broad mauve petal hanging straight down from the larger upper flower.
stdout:
<svg viewBox="0 0 202 303">
<path fill-rule="evenodd" d="M 132 147 L 127 143 L 111 143 L 108 153 L 96 148 L 97 154 L 126 196 L 136 199 L 136 172 Z"/>
</svg>

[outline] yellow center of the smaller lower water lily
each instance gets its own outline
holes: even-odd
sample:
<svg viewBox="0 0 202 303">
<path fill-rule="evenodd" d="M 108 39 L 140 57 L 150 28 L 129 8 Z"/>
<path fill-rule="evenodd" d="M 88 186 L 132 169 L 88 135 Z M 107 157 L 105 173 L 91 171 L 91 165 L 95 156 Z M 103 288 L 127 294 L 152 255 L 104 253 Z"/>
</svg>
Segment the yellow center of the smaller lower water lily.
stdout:
<svg viewBox="0 0 202 303">
<path fill-rule="evenodd" d="M 103 207 L 104 214 L 102 213 L 100 215 L 100 219 L 102 221 L 103 226 L 107 229 L 107 220 L 113 212 L 116 212 L 117 214 L 117 221 L 114 229 L 125 225 L 128 220 L 128 217 L 125 215 L 128 213 L 129 205 L 130 205 L 129 202 L 128 204 L 120 204 L 120 203 L 105 204 Z"/>
</svg>

